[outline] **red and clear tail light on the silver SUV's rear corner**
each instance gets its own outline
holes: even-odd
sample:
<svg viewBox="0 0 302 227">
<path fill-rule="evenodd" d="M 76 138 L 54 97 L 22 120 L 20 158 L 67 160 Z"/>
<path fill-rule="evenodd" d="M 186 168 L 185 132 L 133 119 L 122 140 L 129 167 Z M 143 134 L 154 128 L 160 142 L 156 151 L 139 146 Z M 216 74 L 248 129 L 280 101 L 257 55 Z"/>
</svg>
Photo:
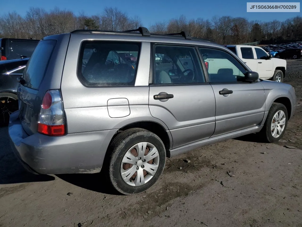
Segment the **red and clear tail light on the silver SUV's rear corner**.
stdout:
<svg viewBox="0 0 302 227">
<path fill-rule="evenodd" d="M 40 108 L 37 131 L 47 136 L 66 134 L 63 102 L 59 90 L 49 90 L 45 93 Z"/>
</svg>

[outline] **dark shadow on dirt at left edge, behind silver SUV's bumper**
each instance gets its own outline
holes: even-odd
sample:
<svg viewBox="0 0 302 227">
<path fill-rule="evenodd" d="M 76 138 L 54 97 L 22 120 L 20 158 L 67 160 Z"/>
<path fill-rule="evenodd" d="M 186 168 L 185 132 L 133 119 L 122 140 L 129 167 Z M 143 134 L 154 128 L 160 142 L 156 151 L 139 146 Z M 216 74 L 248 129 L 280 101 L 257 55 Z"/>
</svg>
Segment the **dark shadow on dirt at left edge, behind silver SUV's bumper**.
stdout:
<svg viewBox="0 0 302 227">
<path fill-rule="evenodd" d="M 7 127 L 0 128 L 0 147 L 0 185 L 51 181 L 55 179 L 49 175 L 29 173 L 24 169 L 11 150 Z"/>
</svg>

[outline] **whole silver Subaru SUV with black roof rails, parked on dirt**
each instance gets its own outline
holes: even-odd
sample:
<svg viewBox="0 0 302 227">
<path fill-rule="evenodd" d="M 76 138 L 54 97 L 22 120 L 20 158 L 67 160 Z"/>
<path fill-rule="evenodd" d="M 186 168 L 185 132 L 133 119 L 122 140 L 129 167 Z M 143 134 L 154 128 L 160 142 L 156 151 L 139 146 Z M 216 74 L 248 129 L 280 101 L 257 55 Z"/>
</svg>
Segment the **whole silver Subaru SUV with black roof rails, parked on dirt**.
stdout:
<svg viewBox="0 0 302 227">
<path fill-rule="evenodd" d="M 279 140 L 295 91 L 258 77 L 226 47 L 187 32 L 51 35 L 18 78 L 11 144 L 33 173 L 103 167 L 118 192 L 143 192 L 166 157 L 250 133 Z"/>
</svg>

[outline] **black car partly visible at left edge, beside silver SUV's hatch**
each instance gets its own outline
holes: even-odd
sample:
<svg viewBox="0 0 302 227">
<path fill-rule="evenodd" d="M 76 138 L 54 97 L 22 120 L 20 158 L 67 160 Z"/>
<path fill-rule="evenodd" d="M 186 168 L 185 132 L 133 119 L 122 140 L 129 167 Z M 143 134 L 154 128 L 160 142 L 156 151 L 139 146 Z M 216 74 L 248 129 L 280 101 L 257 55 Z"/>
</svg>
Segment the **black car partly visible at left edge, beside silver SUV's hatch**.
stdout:
<svg viewBox="0 0 302 227">
<path fill-rule="evenodd" d="M 0 127 L 7 126 L 9 115 L 18 110 L 18 81 L 29 58 L 0 61 Z"/>
</svg>

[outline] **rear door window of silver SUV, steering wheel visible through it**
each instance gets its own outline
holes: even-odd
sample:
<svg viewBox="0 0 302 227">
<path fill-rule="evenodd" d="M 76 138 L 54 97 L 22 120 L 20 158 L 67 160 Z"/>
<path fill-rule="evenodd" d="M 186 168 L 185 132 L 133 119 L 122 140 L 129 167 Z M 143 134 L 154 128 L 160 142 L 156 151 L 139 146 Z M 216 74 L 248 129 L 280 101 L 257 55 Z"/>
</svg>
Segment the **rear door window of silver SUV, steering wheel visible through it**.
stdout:
<svg viewBox="0 0 302 227">
<path fill-rule="evenodd" d="M 154 84 L 205 82 L 201 63 L 193 47 L 156 45 Z M 162 56 L 156 57 L 157 56 Z"/>
</svg>

